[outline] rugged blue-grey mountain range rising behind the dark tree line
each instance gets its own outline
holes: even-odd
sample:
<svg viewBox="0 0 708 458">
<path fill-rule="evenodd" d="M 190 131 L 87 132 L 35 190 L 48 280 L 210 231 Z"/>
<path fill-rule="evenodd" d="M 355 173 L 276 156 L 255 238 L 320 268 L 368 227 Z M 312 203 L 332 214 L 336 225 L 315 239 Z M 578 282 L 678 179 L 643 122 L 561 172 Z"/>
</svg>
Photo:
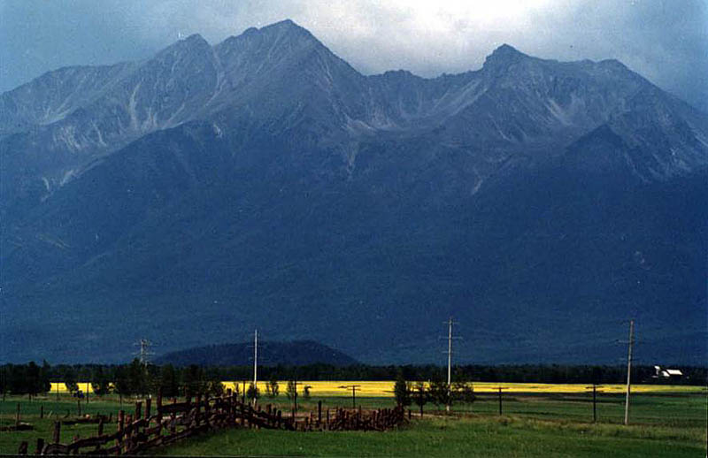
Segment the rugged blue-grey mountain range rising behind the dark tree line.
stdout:
<svg viewBox="0 0 708 458">
<path fill-rule="evenodd" d="M 508 45 L 364 76 L 290 21 L 0 95 L 8 361 L 314 339 L 367 363 L 708 350 L 708 116 Z"/>
</svg>

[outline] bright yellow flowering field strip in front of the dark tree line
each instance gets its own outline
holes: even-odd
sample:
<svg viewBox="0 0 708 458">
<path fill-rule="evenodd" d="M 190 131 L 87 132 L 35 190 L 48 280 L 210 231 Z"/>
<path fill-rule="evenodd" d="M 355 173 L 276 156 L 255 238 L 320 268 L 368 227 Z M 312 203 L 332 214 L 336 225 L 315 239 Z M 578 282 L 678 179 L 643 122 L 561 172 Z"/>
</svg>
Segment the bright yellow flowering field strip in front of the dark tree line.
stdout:
<svg viewBox="0 0 708 458">
<path fill-rule="evenodd" d="M 227 388 L 234 388 L 237 384 L 239 391 L 242 390 L 242 381 L 227 381 L 223 382 Z M 363 397 L 393 397 L 394 381 L 298 381 L 297 392 L 302 393 L 303 386 L 310 386 L 310 394 L 312 396 L 330 397 L 330 396 L 351 396 L 351 388 L 342 388 L 341 386 L 358 385 L 357 396 Z M 250 382 L 246 382 L 248 388 Z M 280 393 L 285 394 L 288 386 L 287 380 L 278 382 Z M 587 384 L 543 384 L 543 383 L 491 383 L 491 382 L 474 382 L 474 391 L 476 393 L 493 393 L 498 387 L 504 388 L 504 393 L 587 393 Z M 91 385 L 88 384 L 89 393 L 93 393 Z M 603 393 L 624 393 L 625 385 L 601 385 L 598 388 Z M 79 389 L 86 393 L 87 383 L 80 382 Z M 266 382 L 258 382 L 258 390 L 262 394 L 266 394 Z M 63 383 L 52 382 L 51 393 L 67 393 L 66 386 Z M 704 393 L 703 386 L 689 385 L 632 385 L 632 393 Z"/>
</svg>

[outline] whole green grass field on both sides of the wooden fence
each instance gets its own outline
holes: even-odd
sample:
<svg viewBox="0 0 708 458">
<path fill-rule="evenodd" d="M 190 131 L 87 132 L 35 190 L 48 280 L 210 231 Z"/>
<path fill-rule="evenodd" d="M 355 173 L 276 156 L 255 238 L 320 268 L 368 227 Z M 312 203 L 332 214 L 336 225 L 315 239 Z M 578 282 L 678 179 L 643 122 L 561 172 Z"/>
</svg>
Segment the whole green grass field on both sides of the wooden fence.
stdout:
<svg viewBox="0 0 708 458">
<path fill-rule="evenodd" d="M 264 398 L 262 404 L 272 402 Z M 288 401 L 278 400 L 283 413 Z M 302 409 L 350 407 L 346 398 L 317 398 L 305 401 Z M 8 397 L 0 403 L 0 423 L 14 424 L 17 403 L 22 421 L 35 431 L 0 432 L 0 453 L 17 453 L 19 443 L 27 440 L 30 453 L 36 439 L 50 439 L 55 419 L 67 410 L 76 416 L 76 400 L 54 395 L 27 401 Z M 632 397 L 631 424 L 622 423 L 624 398 L 618 394 L 598 396 L 598 423 L 592 423 L 592 402 L 581 394 L 505 394 L 504 415 L 498 415 L 495 395 L 478 397 L 473 404 L 453 407 L 445 416 L 432 404 L 426 405 L 422 419 L 413 408 L 410 424 L 387 432 L 289 432 L 228 430 L 189 439 L 172 447 L 155 450 L 168 455 L 301 455 L 301 456 L 705 456 L 705 393 L 637 394 Z M 115 413 L 118 399 L 91 398 L 81 403 L 82 413 Z M 358 398 L 364 408 L 391 407 L 390 398 Z M 130 410 L 133 403 L 125 402 Z M 39 418 L 40 406 L 44 418 Z M 105 431 L 113 431 L 107 424 Z M 74 436 L 96 434 L 96 424 L 64 426 L 62 441 Z"/>
</svg>

